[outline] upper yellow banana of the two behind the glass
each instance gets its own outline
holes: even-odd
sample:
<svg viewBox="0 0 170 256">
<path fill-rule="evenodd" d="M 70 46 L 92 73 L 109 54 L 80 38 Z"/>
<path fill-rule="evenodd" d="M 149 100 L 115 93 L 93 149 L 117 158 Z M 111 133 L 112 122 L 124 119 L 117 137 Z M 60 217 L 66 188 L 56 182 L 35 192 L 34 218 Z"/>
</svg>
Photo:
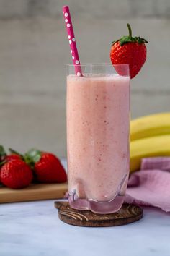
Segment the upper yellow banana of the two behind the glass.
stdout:
<svg viewBox="0 0 170 256">
<path fill-rule="evenodd" d="M 130 140 L 170 135 L 170 112 L 142 116 L 130 122 Z"/>
</svg>

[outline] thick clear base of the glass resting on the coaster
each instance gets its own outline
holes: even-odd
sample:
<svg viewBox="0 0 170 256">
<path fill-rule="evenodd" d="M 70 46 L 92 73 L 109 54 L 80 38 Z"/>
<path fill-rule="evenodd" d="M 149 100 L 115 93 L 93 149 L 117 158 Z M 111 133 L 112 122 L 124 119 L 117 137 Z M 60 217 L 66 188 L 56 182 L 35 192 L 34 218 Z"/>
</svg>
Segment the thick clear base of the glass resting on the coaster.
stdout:
<svg viewBox="0 0 170 256">
<path fill-rule="evenodd" d="M 98 202 L 95 200 L 81 199 L 77 197 L 76 192 L 69 195 L 68 202 L 71 208 L 77 210 L 91 210 L 94 213 L 115 213 L 122 207 L 124 196 L 117 195 L 113 200 L 108 202 Z"/>
</svg>

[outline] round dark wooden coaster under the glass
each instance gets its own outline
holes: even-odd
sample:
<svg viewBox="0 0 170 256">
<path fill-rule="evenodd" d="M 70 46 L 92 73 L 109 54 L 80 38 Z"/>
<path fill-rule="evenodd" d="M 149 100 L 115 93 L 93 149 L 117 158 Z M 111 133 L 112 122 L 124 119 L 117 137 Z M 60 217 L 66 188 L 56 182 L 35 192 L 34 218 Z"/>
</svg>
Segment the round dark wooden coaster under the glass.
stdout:
<svg viewBox="0 0 170 256">
<path fill-rule="evenodd" d="M 89 210 L 75 210 L 68 202 L 55 202 L 61 221 L 74 226 L 120 226 L 133 223 L 143 217 L 143 210 L 137 205 L 124 203 L 117 213 L 97 214 Z"/>
</svg>

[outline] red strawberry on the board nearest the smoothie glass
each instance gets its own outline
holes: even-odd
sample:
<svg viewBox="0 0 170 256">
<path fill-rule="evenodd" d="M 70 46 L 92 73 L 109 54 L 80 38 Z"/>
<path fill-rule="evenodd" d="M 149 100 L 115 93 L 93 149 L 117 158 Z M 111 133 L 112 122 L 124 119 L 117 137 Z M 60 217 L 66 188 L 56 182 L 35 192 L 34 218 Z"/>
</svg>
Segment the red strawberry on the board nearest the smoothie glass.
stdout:
<svg viewBox="0 0 170 256">
<path fill-rule="evenodd" d="M 67 175 L 61 162 L 52 153 L 30 150 L 24 156 L 33 166 L 39 182 L 66 182 Z"/>
</svg>

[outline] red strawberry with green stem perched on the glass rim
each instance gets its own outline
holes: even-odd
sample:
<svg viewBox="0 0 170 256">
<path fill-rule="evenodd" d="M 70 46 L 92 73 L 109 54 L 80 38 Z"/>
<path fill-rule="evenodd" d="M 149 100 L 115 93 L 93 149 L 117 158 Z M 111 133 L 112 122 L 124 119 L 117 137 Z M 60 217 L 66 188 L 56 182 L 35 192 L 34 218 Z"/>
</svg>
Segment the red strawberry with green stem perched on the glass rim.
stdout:
<svg viewBox="0 0 170 256">
<path fill-rule="evenodd" d="M 110 51 L 110 59 L 113 66 L 117 64 L 129 64 L 130 77 L 135 77 L 136 74 L 143 67 L 146 61 L 146 45 L 148 43 L 144 38 L 135 36 L 132 37 L 132 30 L 129 24 L 129 35 L 123 36 L 119 40 L 116 40 L 112 44 Z M 114 66 L 117 73 L 125 75 L 125 69 L 122 67 Z"/>
</svg>

